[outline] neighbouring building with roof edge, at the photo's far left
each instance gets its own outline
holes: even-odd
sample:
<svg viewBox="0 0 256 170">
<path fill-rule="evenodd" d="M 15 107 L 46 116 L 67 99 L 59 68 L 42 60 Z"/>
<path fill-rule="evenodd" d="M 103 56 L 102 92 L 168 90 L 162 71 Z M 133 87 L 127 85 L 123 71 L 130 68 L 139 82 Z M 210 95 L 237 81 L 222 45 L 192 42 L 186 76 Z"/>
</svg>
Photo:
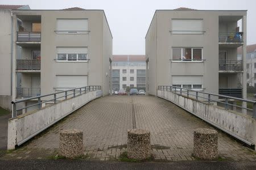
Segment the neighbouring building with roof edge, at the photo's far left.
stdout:
<svg viewBox="0 0 256 170">
<path fill-rule="evenodd" d="M 11 10 L 29 10 L 28 5 L 0 5 L 0 107 L 11 111 L 12 99 L 12 67 L 13 67 L 13 36 L 11 34 L 12 14 Z M 17 47 L 17 57 L 21 56 L 20 48 Z M 20 76 L 17 77 L 20 80 Z"/>
</svg>

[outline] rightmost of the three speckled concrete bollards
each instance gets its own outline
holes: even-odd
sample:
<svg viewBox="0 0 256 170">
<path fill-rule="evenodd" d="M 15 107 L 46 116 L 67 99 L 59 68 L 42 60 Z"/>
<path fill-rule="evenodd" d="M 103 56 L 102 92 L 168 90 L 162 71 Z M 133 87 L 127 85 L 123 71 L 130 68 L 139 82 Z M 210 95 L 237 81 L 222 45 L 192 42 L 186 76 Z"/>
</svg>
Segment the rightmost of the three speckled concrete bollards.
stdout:
<svg viewBox="0 0 256 170">
<path fill-rule="evenodd" d="M 218 158 L 218 133 L 216 130 L 200 128 L 194 131 L 193 156 L 206 160 Z"/>
</svg>

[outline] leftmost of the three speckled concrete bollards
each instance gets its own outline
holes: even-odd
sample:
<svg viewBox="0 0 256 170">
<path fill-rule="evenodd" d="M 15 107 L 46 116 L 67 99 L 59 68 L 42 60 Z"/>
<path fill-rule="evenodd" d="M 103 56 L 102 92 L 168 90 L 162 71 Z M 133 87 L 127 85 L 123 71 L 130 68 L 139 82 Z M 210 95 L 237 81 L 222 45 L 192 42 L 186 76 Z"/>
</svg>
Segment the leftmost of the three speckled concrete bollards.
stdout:
<svg viewBox="0 0 256 170">
<path fill-rule="evenodd" d="M 76 158 L 83 154 L 82 131 L 77 129 L 61 131 L 60 155 L 66 158 Z"/>
</svg>

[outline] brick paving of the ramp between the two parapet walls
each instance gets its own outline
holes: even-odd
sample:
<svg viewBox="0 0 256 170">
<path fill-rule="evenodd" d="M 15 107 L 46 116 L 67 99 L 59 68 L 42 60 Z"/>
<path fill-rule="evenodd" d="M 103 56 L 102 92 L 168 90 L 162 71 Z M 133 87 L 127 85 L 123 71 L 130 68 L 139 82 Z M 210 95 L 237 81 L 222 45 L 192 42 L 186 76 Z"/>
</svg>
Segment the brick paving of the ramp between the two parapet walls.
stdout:
<svg viewBox="0 0 256 170">
<path fill-rule="evenodd" d="M 86 159 L 117 159 L 126 151 L 127 129 L 151 131 L 152 154 L 156 160 L 195 160 L 193 131 L 212 128 L 206 122 L 155 96 L 105 96 L 93 100 L 3 159 L 49 158 L 58 152 L 59 131 L 84 131 Z M 256 152 L 218 130 L 221 159 L 256 160 Z"/>
</svg>

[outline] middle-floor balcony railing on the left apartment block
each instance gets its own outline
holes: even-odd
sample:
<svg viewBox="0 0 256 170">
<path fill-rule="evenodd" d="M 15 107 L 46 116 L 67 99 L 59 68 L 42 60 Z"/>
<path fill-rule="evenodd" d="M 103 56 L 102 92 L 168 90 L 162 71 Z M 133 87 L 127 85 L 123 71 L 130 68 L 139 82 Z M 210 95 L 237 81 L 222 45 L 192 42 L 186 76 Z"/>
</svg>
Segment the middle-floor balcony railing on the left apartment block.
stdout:
<svg viewBox="0 0 256 170">
<path fill-rule="evenodd" d="M 17 59 L 16 70 L 40 70 L 40 59 Z"/>
</svg>

